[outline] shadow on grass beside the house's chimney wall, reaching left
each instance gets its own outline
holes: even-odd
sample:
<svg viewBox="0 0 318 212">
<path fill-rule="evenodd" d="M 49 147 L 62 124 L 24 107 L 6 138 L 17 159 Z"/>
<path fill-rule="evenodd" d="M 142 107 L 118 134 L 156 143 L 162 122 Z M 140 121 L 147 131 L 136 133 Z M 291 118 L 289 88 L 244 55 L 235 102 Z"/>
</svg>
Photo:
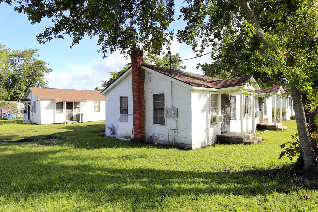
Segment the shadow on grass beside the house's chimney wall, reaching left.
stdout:
<svg viewBox="0 0 318 212">
<path fill-rule="evenodd" d="M 56 126 L 56 125 L 55 125 Z M 41 126 L 36 126 L 41 127 Z M 22 142 L 36 142 L 40 145 L 65 145 L 69 144 L 77 148 L 96 149 L 96 148 L 132 148 L 132 147 L 152 147 L 152 148 L 166 148 L 161 145 L 135 143 L 129 140 L 120 140 L 112 137 L 101 136 L 105 133 L 105 124 L 76 124 L 76 125 L 60 125 L 58 129 L 62 128 L 65 132 L 46 133 L 42 135 L 34 135 L 25 137 L 23 139 L 20 135 L 12 133 L 10 140 L 2 142 L 22 143 Z M 54 130 L 54 129 L 53 129 Z M 52 131 L 53 131 L 52 130 Z M 34 131 L 36 132 L 36 130 Z M 21 133 L 21 132 L 16 132 Z M 15 139 L 19 138 L 19 139 Z M 1 140 L 1 137 L 0 137 Z M 0 141 L 1 142 L 1 141 Z"/>
</svg>

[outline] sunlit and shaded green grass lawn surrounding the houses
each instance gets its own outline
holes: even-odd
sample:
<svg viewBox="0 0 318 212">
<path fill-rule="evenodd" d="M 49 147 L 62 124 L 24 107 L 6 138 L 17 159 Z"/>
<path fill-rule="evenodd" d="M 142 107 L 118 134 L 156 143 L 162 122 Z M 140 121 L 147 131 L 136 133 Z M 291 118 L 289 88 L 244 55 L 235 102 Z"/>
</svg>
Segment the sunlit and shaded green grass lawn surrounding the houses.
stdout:
<svg viewBox="0 0 318 212">
<path fill-rule="evenodd" d="M 278 160 L 297 132 L 283 125 L 256 145 L 184 151 L 101 137 L 104 121 L 0 122 L 0 211 L 318 211 Z"/>
</svg>

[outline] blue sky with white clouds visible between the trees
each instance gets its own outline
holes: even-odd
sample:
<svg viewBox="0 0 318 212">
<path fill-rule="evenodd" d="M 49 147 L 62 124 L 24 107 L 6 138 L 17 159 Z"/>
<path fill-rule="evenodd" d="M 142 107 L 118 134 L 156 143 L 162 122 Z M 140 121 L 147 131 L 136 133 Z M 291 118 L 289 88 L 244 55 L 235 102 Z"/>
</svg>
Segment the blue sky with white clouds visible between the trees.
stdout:
<svg viewBox="0 0 318 212">
<path fill-rule="evenodd" d="M 14 5 L 13 5 L 14 6 Z M 71 38 L 53 39 L 51 42 L 39 44 L 36 36 L 42 33 L 45 27 L 51 26 L 49 19 L 43 20 L 41 23 L 32 25 L 24 14 L 19 14 L 13 10 L 13 6 L 0 4 L 0 44 L 11 49 L 38 49 L 40 59 L 49 63 L 48 67 L 53 71 L 45 76 L 48 80 L 48 86 L 51 88 L 65 89 L 83 89 L 93 90 L 95 87 L 101 87 L 103 80 L 110 78 L 110 71 L 120 71 L 129 61 L 116 51 L 107 54 L 107 58 L 102 59 L 103 54 L 97 51 L 100 47 L 97 45 L 97 39 L 84 38 L 79 44 L 72 48 Z M 178 16 L 179 5 L 175 8 L 175 20 Z M 173 23 L 171 29 L 175 29 L 184 25 L 183 21 Z M 207 49 L 206 52 L 210 51 Z M 177 43 L 176 39 L 171 46 L 172 54 L 179 53 L 181 59 L 195 57 L 190 46 Z M 210 54 L 201 58 L 184 61 L 186 72 L 203 74 L 201 70 L 197 70 L 197 63 L 209 63 L 211 61 Z"/>
</svg>

